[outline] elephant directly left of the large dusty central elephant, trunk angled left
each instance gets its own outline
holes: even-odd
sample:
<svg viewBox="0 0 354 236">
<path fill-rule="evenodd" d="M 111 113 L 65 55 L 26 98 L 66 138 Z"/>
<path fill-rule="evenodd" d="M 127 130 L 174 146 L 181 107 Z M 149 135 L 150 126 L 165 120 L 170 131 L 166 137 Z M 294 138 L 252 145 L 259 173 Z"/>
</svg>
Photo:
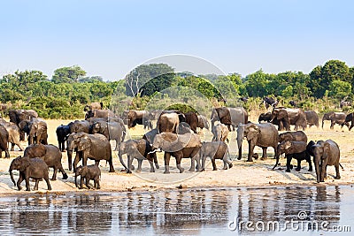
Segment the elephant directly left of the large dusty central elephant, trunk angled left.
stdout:
<svg viewBox="0 0 354 236">
<path fill-rule="evenodd" d="M 149 141 L 145 139 L 123 141 L 119 146 L 119 160 L 120 163 L 127 170 L 127 173 L 131 173 L 134 170 L 132 165 L 134 158 L 138 161 L 138 169 L 136 171 L 142 171 L 142 161 L 147 159 L 150 163 L 150 172 L 155 172 L 153 162 L 158 169 L 158 158 L 155 152 L 151 152 L 152 148 Z M 123 155 L 127 154 L 127 165 L 124 164 Z"/>
</svg>

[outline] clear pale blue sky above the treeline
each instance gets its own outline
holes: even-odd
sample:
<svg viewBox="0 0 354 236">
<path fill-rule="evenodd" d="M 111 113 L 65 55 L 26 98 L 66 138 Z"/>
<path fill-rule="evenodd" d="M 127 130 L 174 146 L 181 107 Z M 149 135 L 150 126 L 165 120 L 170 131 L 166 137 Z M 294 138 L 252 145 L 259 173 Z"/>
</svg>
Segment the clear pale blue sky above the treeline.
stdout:
<svg viewBox="0 0 354 236">
<path fill-rule="evenodd" d="M 243 76 L 354 66 L 354 2 L 326 0 L 13 0 L 0 3 L 0 75 L 50 77 L 80 65 L 118 80 L 169 54 L 202 57 Z"/>
</svg>

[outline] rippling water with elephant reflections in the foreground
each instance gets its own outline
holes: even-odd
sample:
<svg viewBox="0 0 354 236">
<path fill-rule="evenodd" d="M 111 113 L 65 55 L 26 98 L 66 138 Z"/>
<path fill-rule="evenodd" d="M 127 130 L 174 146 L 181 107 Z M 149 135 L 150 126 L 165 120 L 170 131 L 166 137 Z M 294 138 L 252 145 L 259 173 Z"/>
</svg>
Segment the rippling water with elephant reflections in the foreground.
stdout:
<svg viewBox="0 0 354 236">
<path fill-rule="evenodd" d="M 1 235 L 328 235 L 314 227 L 354 231 L 352 187 L 212 188 L 128 193 L 34 195 L 0 198 Z M 299 220 L 299 211 L 303 211 Z M 294 228 L 286 221 L 297 220 Z M 235 228 L 231 222 L 258 224 Z M 262 228 L 278 222 L 286 231 Z M 350 226 L 344 228 L 344 226 Z M 275 226 L 274 226 L 275 227 Z M 231 230 L 229 229 L 231 228 Z M 325 228 L 325 230 L 327 229 Z M 341 235 L 350 232 L 341 232 Z"/>
</svg>

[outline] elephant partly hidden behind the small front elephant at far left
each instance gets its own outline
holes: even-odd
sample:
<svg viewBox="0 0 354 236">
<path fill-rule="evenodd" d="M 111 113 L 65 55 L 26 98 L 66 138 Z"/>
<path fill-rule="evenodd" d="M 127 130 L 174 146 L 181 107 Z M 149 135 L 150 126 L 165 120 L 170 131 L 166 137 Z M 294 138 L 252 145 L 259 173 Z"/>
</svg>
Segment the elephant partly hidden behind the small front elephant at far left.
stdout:
<svg viewBox="0 0 354 236">
<path fill-rule="evenodd" d="M 61 171 L 63 174 L 63 179 L 67 179 L 67 174 L 64 171 L 63 165 L 61 164 L 61 152 L 60 149 L 54 145 L 42 145 L 35 144 L 29 145 L 25 149 L 23 156 L 28 156 L 29 158 L 40 157 L 48 165 L 49 168 L 54 169 L 53 177 L 51 180 L 57 180 L 57 171 Z"/>
</svg>

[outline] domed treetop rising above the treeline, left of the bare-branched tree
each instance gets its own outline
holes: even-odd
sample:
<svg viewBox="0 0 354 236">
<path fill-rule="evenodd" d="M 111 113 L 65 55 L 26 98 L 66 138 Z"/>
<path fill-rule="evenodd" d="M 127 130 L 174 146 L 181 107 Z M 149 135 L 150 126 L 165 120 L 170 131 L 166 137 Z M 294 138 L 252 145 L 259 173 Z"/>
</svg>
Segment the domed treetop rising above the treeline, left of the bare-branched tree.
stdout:
<svg viewBox="0 0 354 236">
<path fill-rule="evenodd" d="M 54 83 L 73 83 L 78 82 L 86 72 L 79 65 L 58 68 L 54 71 L 52 81 Z"/>
</svg>

